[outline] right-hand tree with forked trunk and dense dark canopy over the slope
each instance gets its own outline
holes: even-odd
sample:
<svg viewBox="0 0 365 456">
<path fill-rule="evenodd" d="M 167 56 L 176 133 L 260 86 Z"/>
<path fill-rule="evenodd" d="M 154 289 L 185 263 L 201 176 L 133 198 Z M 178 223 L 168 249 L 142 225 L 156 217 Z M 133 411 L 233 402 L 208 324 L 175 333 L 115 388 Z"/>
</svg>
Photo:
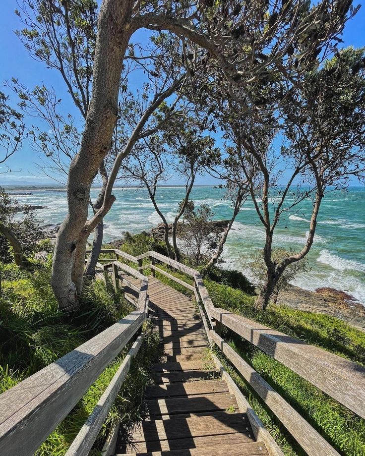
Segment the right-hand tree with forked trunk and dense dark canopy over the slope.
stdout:
<svg viewBox="0 0 365 456">
<path fill-rule="evenodd" d="M 281 117 L 268 117 L 261 124 L 251 118 L 244 121 L 243 115 L 230 118 L 242 171 L 266 235 L 266 281 L 255 303 L 259 309 L 267 307 L 286 268 L 310 251 L 323 197 L 346 189 L 351 175 L 364 180 L 364 76 L 364 50 L 344 49 L 306 75 L 298 96 L 280 109 Z M 281 142 L 280 150 L 274 138 Z M 305 245 L 277 262 L 275 229 L 304 199 L 312 201 Z"/>
</svg>

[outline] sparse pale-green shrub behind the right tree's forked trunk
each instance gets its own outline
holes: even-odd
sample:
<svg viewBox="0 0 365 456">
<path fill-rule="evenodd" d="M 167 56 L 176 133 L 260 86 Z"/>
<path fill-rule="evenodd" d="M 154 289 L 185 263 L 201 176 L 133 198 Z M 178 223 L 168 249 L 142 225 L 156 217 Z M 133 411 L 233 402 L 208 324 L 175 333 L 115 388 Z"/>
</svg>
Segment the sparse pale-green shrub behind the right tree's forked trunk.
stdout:
<svg viewBox="0 0 365 456">
<path fill-rule="evenodd" d="M 271 254 L 272 260 L 276 264 L 280 264 L 285 258 L 292 255 L 293 253 L 293 250 L 288 251 L 284 248 L 274 248 Z M 263 251 L 256 252 L 252 256 L 252 259 L 253 261 L 249 263 L 249 267 L 255 275 L 259 287 L 262 288 L 267 281 L 267 267 L 263 259 Z M 309 264 L 306 258 L 303 258 L 301 261 L 297 261 L 296 263 L 289 265 L 274 287 L 272 293 L 272 302 L 276 304 L 279 292 L 288 289 L 289 285 L 298 277 L 298 275 L 305 273 L 308 271 L 308 269 Z"/>
</svg>

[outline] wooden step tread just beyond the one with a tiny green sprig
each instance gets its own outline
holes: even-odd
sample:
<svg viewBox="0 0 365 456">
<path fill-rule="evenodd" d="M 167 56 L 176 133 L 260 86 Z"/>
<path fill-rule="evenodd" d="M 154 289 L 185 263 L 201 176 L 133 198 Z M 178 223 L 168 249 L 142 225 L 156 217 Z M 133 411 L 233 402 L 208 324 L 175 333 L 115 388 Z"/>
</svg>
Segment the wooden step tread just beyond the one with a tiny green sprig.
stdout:
<svg viewBox="0 0 365 456">
<path fill-rule="evenodd" d="M 146 399 L 192 397 L 205 394 L 228 393 L 228 387 L 223 380 L 204 380 L 202 382 L 167 383 L 150 385 L 146 388 Z"/>
</svg>

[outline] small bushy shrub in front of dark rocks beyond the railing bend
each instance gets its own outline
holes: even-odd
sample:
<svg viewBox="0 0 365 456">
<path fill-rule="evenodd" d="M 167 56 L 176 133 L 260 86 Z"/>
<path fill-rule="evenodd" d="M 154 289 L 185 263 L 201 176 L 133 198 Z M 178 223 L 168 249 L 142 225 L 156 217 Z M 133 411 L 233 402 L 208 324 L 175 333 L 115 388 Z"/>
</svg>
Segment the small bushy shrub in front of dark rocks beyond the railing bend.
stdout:
<svg viewBox="0 0 365 456">
<path fill-rule="evenodd" d="M 212 223 L 213 216 L 207 204 L 201 203 L 195 208 L 193 201 L 188 201 L 183 222 L 178 226 L 178 236 L 180 249 L 193 266 L 205 264 L 217 248 L 219 231 Z"/>
</svg>

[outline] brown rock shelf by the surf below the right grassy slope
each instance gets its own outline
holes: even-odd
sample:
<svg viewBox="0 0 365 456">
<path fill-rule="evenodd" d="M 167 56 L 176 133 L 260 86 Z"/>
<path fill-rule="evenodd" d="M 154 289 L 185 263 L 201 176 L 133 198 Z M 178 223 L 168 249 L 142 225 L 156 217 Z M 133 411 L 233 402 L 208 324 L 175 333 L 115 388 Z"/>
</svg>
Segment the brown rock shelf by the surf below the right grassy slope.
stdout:
<svg viewBox="0 0 365 456">
<path fill-rule="evenodd" d="M 277 303 L 292 309 L 331 315 L 365 332 L 365 306 L 345 291 L 329 287 L 309 291 L 292 285 L 279 293 Z"/>
</svg>

